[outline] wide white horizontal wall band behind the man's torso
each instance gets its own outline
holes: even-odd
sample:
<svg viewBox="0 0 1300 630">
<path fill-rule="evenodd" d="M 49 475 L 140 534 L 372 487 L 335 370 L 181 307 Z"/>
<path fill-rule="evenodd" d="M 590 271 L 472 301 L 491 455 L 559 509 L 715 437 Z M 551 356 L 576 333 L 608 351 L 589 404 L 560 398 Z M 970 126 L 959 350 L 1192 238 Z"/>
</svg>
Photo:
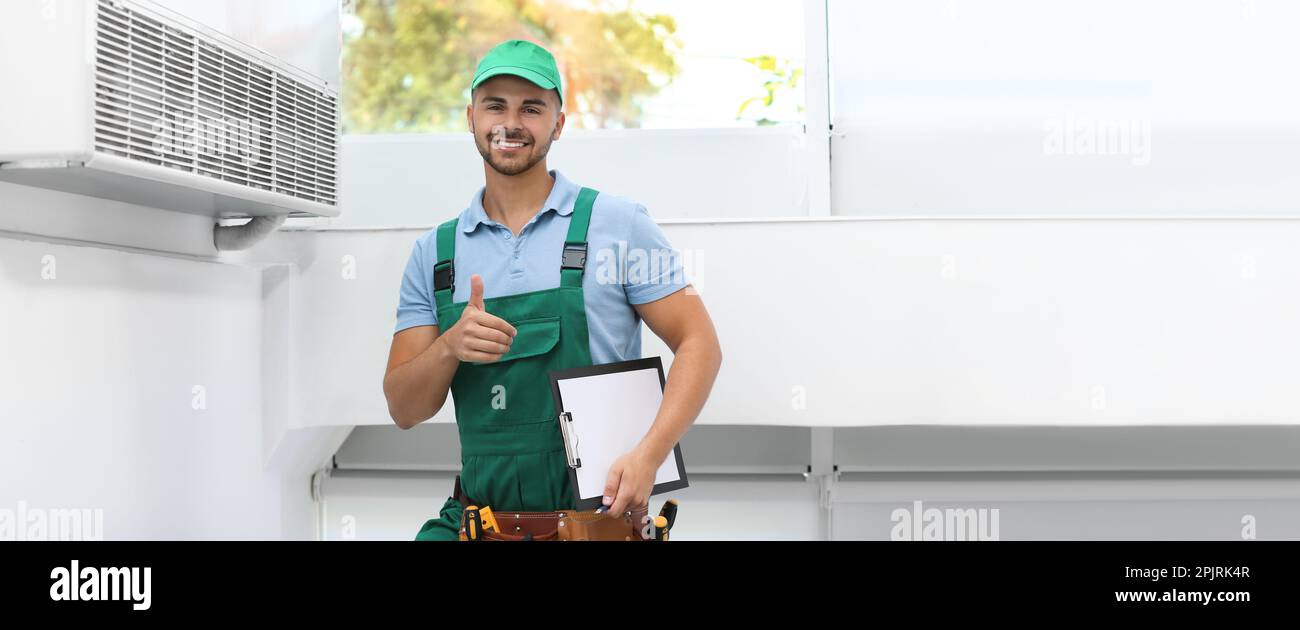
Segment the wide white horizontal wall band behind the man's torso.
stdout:
<svg viewBox="0 0 1300 630">
<path fill-rule="evenodd" d="M 725 365 L 699 422 L 1294 423 L 1292 221 L 667 222 Z M 422 230 L 282 231 L 304 422 L 390 422 L 396 290 Z M 355 279 L 342 275 L 352 265 Z M 647 329 L 645 353 L 671 353 Z M 338 357 L 348 357 L 341 360 Z M 671 362 L 670 362 L 671 365 Z M 802 401 L 802 407 L 800 403 Z M 451 418 L 450 405 L 439 421 Z"/>
</svg>

